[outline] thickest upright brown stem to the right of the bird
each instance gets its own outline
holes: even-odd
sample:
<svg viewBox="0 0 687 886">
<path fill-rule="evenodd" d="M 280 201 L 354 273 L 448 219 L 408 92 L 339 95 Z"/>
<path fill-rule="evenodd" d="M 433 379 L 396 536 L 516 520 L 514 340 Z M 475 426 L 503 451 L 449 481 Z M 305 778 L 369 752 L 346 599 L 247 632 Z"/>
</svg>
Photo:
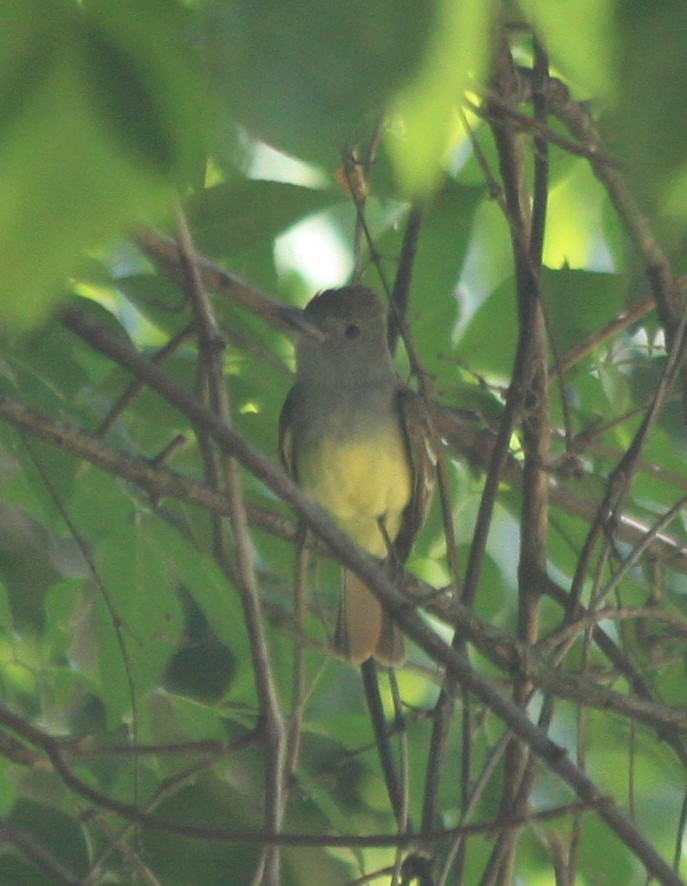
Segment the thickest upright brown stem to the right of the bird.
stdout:
<svg viewBox="0 0 687 886">
<path fill-rule="evenodd" d="M 535 56 L 537 52 L 535 51 Z M 546 79 L 546 60 L 534 75 L 537 84 Z M 515 263 L 516 295 L 519 313 L 518 356 L 513 371 L 511 390 L 520 388 L 523 416 L 523 505 L 518 564 L 518 637 L 531 646 L 539 631 L 539 599 L 546 574 L 546 542 L 548 531 L 548 477 L 549 461 L 549 395 L 546 366 L 548 362 L 546 327 L 539 289 L 539 267 L 544 241 L 548 200 L 548 162 L 545 142 L 539 139 L 535 158 L 535 193 L 532 209 L 526 186 L 523 140 L 509 125 L 511 117 L 499 119 L 496 107 L 515 107 L 518 101 L 518 82 L 510 48 L 502 35 L 495 61 L 492 95 L 496 101 L 490 109 L 493 135 L 499 156 L 501 181 L 505 196 L 506 218 L 511 232 Z M 540 95 L 535 102 L 538 119 L 543 119 L 545 106 Z M 516 677 L 513 699 L 523 707 L 531 695 L 531 685 Z M 527 802 L 533 778 L 530 750 L 519 741 L 511 741 L 507 748 L 502 803 L 504 808 L 518 813 Z M 483 886 L 513 879 L 517 832 L 503 831 L 494 845 L 490 861 L 482 877 Z"/>
</svg>

